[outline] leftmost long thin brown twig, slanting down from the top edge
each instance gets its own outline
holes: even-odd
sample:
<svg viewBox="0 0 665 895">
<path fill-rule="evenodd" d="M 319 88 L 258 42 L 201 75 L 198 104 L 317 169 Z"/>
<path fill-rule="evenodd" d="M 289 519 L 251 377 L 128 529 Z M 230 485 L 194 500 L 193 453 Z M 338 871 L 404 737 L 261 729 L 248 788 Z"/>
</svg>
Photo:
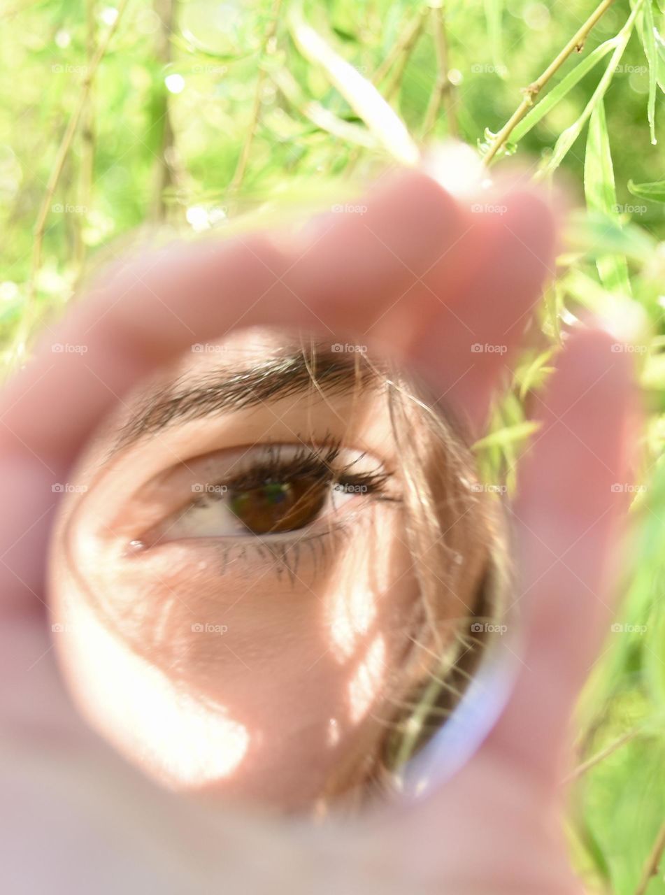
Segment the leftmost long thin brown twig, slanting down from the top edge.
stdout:
<svg viewBox="0 0 665 895">
<path fill-rule="evenodd" d="M 30 328 L 33 322 L 34 317 L 34 299 L 35 299 L 35 289 L 36 289 L 36 280 L 39 271 L 39 266 L 41 264 L 41 251 L 42 244 L 44 242 L 44 233 L 46 229 L 46 222 L 48 217 L 48 211 L 51 208 L 51 202 L 53 201 L 53 197 L 55 194 L 55 189 L 60 180 L 60 176 L 63 173 L 64 162 L 67 158 L 67 154 L 72 146 L 72 140 L 74 134 L 76 133 L 76 129 L 81 121 L 81 115 L 83 109 L 85 108 L 86 102 L 88 100 L 88 96 L 90 94 L 90 88 L 92 86 L 92 81 L 94 80 L 95 74 L 98 70 L 99 64 L 102 59 L 106 55 L 108 46 L 113 38 L 115 31 L 117 30 L 118 24 L 123 17 L 124 10 L 129 4 L 129 0 L 120 0 L 117 8 L 117 15 L 115 16 L 115 21 L 109 27 L 107 31 L 107 35 L 104 40 L 99 44 L 98 50 L 92 62 L 90 63 L 89 70 L 85 73 L 85 77 L 83 81 L 81 81 L 81 93 L 79 95 L 79 101 L 72 112 L 72 115 L 67 123 L 67 127 L 64 131 L 63 139 L 58 147 L 57 153 L 55 155 L 54 166 L 51 170 L 51 174 L 48 178 L 47 183 L 47 191 L 44 195 L 44 200 L 42 200 L 41 207 L 39 208 L 37 222 L 35 224 L 34 229 L 34 243 L 32 247 L 32 261 L 30 265 L 30 279 L 28 281 L 28 288 L 26 294 L 26 307 L 25 312 L 22 316 L 21 327 L 19 328 L 19 333 L 17 334 L 17 346 L 19 350 L 21 350 L 21 345 L 24 343 L 26 337 L 30 333 Z"/>
</svg>

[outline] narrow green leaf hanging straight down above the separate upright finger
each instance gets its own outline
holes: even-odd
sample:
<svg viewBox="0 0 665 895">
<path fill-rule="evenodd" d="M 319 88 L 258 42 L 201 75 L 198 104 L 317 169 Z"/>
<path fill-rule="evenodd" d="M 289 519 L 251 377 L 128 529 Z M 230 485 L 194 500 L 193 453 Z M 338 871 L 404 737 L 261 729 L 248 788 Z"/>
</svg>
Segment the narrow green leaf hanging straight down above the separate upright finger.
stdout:
<svg viewBox="0 0 665 895">
<path fill-rule="evenodd" d="M 590 211 L 618 217 L 617 191 L 610 153 L 610 135 L 602 99 L 593 109 L 584 153 L 584 195 Z M 626 255 L 611 252 L 596 260 L 601 283 L 609 292 L 631 295 Z"/>
</svg>

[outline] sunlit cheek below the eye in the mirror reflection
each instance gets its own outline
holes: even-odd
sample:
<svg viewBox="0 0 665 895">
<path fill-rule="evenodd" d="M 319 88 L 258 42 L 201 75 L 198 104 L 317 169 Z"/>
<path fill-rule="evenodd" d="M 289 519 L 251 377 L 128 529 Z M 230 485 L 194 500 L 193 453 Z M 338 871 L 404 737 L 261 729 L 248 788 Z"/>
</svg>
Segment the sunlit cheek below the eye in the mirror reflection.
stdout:
<svg viewBox="0 0 665 895">
<path fill-rule="evenodd" d="M 385 514 L 326 559 L 305 550 L 294 574 L 239 557 L 221 574 L 215 550 L 179 544 L 89 564 L 85 592 L 55 595 L 84 711 L 179 788 L 299 807 L 350 783 L 412 643 L 399 525 Z"/>
</svg>

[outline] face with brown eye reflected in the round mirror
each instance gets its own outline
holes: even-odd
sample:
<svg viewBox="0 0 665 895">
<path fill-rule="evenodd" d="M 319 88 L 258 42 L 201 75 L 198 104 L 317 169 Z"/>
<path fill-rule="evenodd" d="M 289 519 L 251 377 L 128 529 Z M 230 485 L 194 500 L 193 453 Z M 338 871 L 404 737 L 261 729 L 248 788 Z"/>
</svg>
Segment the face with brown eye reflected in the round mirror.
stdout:
<svg viewBox="0 0 665 895">
<path fill-rule="evenodd" d="M 337 347 L 257 329 L 193 346 L 119 403 L 66 486 L 50 593 L 65 677 L 168 787 L 280 811 L 358 791 L 422 677 L 428 559 L 391 386 Z M 465 538 L 429 609 L 444 647 L 482 574 Z"/>
</svg>

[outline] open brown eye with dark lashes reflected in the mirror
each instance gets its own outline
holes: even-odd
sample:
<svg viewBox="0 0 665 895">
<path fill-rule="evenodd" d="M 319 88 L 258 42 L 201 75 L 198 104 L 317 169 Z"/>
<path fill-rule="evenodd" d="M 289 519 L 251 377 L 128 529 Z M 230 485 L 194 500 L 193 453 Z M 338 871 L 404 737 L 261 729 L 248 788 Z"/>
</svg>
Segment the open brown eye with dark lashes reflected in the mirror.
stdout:
<svg viewBox="0 0 665 895">
<path fill-rule="evenodd" d="M 339 522 L 345 508 L 363 500 L 396 499 L 377 460 L 339 445 L 257 446 L 226 463 L 220 458 L 219 467 L 226 474 L 209 462 L 207 481 L 191 485 L 195 497 L 141 541 L 266 539 Z"/>
</svg>

